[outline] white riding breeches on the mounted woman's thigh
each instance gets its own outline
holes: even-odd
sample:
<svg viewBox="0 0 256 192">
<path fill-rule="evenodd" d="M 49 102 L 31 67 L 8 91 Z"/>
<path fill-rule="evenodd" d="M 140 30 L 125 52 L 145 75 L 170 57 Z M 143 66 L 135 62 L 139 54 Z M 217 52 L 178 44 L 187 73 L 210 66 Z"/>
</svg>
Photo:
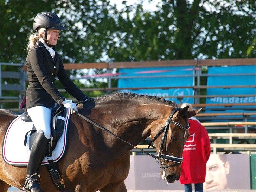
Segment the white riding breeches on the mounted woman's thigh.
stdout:
<svg viewBox="0 0 256 192">
<path fill-rule="evenodd" d="M 43 106 L 35 106 L 28 108 L 27 113 L 31 117 L 37 132 L 42 130 L 44 132 L 44 136 L 47 139 L 50 139 L 52 110 Z"/>
</svg>

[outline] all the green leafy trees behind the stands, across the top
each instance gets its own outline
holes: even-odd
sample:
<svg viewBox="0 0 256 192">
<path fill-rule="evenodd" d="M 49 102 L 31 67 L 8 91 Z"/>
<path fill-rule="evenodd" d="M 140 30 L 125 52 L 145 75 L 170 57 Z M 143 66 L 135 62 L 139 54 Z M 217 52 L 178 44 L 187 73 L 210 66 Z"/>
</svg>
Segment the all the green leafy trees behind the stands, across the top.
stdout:
<svg viewBox="0 0 256 192">
<path fill-rule="evenodd" d="M 143 1 L 123 5 L 118 11 L 109 0 L 0 0 L 0 61 L 25 62 L 27 36 L 43 11 L 58 14 L 67 29 L 56 46 L 64 63 L 256 57 L 255 0 L 162 0 L 155 11 Z M 83 75 L 70 71 L 77 73 Z"/>
</svg>

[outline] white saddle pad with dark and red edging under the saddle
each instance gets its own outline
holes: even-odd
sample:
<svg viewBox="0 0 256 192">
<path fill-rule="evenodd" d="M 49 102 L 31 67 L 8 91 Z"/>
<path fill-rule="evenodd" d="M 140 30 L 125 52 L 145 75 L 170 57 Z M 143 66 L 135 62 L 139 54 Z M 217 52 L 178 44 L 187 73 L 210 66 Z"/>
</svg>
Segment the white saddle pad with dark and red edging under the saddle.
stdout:
<svg viewBox="0 0 256 192">
<path fill-rule="evenodd" d="M 52 152 L 52 157 L 45 157 L 42 161 L 42 165 L 48 164 L 47 159 L 53 159 L 54 162 L 57 162 L 64 155 L 66 142 L 67 142 L 66 139 L 67 139 L 67 128 L 69 124 L 68 123 L 69 117 L 70 117 L 70 110 L 67 110 L 63 134 L 60 137 L 55 149 Z M 28 147 L 30 134 L 27 134 L 26 146 L 24 146 L 24 139 L 25 139 L 26 133 L 32 130 L 32 128 L 33 128 L 33 123 L 25 122 L 21 120 L 20 115 L 10 123 L 5 133 L 3 149 L 2 149 L 2 156 L 5 162 L 11 165 L 21 165 L 21 166 L 27 165 L 28 158 L 30 155 L 30 150 Z"/>
</svg>

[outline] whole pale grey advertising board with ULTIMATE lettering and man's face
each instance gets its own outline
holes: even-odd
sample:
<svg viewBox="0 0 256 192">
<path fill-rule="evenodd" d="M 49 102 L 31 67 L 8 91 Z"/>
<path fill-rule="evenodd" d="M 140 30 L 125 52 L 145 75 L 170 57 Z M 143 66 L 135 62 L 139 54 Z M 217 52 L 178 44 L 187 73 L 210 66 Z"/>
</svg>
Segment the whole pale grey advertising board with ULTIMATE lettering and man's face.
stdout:
<svg viewBox="0 0 256 192">
<path fill-rule="evenodd" d="M 175 181 L 162 180 L 160 165 L 146 155 L 131 156 L 130 173 L 125 181 L 128 190 L 183 190 Z M 205 190 L 250 189 L 250 162 L 247 154 L 211 154 L 206 164 Z"/>
</svg>

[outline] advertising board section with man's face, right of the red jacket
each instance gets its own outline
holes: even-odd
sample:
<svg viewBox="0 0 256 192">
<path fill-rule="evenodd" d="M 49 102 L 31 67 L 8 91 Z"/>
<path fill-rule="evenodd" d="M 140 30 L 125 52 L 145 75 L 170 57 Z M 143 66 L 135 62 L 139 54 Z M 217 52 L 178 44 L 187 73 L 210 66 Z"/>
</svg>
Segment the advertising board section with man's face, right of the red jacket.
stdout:
<svg viewBox="0 0 256 192">
<path fill-rule="evenodd" d="M 250 189 L 249 155 L 211 154 L 206 163 L 205 190 Z"/>
</svg>

